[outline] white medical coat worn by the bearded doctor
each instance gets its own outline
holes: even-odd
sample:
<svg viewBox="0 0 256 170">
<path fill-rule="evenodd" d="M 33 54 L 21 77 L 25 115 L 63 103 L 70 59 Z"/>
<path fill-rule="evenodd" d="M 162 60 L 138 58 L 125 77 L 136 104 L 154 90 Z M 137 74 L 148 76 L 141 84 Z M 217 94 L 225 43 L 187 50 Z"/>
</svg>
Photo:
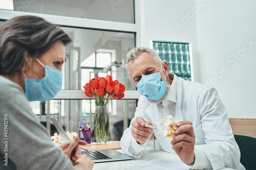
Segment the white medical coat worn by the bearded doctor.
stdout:
<svg viewBox="0 0 256 170">
<path fill-rule="evenodd" d="M 154 134 L 159 148 L 175 153 L 169 138 L 157 135 L 159 131 L 164 130 L 164 127 L 159 125 L 160 119 L 163 118 L 161 109 L 158 104 L 149 103 L 146 97 L 141 95 L 131 123 L 137 116 L 146 121 L 150 120 L 157 127 Z M 234 140 L 226 108 L 215 88 L 178 78 L 175 118 L 193 123 L 195 145 L 204 152 L 213 169 L 236 168 L 238 165 L 237 169 L 244 169 L 239 162 L 240 150 Z M 132 124 L 123 133 L 121 148 L 127 155 L 140 157 L 146 144 L 135 144 L 136 140 L 132 136 L 131 126 Z"/>
</svg>

